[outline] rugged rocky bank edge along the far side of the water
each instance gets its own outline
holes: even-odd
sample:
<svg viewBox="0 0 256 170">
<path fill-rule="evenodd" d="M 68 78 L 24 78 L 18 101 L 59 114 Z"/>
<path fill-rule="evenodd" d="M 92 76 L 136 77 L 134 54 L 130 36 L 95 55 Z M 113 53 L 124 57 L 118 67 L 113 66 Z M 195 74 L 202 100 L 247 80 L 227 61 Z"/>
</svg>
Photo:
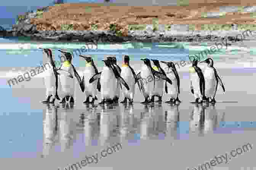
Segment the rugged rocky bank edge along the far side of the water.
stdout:
<svg viewBox="0 0 256 170">
<path fill-rule="evenodd" d="M 147 25 L 145 30 L 128 31 L 125 36 L 118 36 L 115 31 L 58 31 L 58 30 L 37 30 L 37 25 L 30 24 L 30 19 L 37 18 L 38 11 L 48 11 L 48 7 L 38 9 L 37 11 L 27 12 L 20 16 L 18 22 L 13 25 L 12 30 L 1 30 L 0 36 L 26 36 L 32 40 L 50 40 L 50 41 L 80 41 L 80 42 L 202 42 L 216 41 L 224 39 L 227 35 L 221 35 L 218 31 L 189 31 L 189 25 L 173 24 L 169 31 L 165 30 L 165 25 L 158 25 L 154 30 L 153 25 Z M 229 41 L 237 39 L 236 35 L 227 36 Z"/>
</svg>

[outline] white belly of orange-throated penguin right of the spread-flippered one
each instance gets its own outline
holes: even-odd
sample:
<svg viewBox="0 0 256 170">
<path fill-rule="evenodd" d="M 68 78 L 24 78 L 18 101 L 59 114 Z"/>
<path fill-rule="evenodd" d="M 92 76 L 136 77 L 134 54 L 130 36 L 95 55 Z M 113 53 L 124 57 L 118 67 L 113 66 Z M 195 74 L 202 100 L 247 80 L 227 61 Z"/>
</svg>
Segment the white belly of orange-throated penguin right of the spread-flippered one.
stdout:
<svg viewBox="0 0 256 170">
<path fill-rule="evenodd" d="M 125 87 L 122 88 L 123 96 L 126 98 L 133 99 L 135 80 L 131 69 L 128 66 L 122 67 L 121 77 L 128 84 L 130 90 L 127 90 Z"/>
</svg>

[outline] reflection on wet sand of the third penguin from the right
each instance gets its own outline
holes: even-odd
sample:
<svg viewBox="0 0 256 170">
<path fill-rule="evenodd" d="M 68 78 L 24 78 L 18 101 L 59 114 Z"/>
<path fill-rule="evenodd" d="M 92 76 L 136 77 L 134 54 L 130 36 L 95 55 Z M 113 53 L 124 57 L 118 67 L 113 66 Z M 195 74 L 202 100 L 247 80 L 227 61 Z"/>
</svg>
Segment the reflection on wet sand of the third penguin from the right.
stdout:
<svg viewBox="0 0 256 170">
<path fill-rule="evenodd" d="M 170 108 L 165 111 L 166 122 L 166 136 L 171 140 L 177 139 L 177 129 L 179 123 L 179 105 L 171 105 Z"/>
</svg>

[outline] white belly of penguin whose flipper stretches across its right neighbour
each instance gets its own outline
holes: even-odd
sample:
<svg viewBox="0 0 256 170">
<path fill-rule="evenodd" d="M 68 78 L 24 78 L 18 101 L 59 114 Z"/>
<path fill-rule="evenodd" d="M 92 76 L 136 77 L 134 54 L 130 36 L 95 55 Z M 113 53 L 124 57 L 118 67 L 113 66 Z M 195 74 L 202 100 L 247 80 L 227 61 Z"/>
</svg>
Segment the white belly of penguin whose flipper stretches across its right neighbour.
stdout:
<svg viewBox="0 0 256 170">
<path fill-rule="evenodd" d="M 149 70 L 146 65 L 141 68 L 141 77 L 145 89 L 145 95 L 151 97 L 154 90 L 154 77 L 151 70 Z"/>
</svg>

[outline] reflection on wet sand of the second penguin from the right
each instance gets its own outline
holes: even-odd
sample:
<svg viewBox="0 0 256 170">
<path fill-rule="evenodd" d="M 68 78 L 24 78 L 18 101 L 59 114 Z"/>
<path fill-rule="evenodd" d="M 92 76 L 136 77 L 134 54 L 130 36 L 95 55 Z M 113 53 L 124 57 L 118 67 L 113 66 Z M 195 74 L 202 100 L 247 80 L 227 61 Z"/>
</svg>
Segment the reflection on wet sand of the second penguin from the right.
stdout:
<svg viewBox="0 0 256 170">
<path fill-rule="evenodd" d="M 189 121 L 189 130 L 195 134 L 202 134 L 203 133 L 203 124 L 205 121 L 205 108 L 202 104 L 194 104 L 194 109 L 190 115 Z"/>
</svg>

